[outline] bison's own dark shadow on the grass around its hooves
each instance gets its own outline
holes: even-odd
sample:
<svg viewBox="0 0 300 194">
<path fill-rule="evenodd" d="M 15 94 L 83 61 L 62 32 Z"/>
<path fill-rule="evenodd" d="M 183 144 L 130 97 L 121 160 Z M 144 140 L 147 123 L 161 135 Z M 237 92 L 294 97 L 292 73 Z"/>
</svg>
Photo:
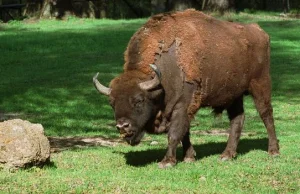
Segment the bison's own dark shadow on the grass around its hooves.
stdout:
<svg viewBox="0 0 300 194">
<path fill-rule="evenodd" d="M 212 155 L 221 155 L 226 147 L 226 142 L 206 143 L 201 145 L 194 145 L 197 152 L 196 160 L 209 157 Z M 238 156 L 247 154 L 251 150 L 263 150 L 267 154 L 268 139 L 242 139 L 239 143 L 237 152 Z M 152 149 L 145 151 L 135 151 L 123 153 L 126 158 L 126 163 L 135 167 L 142 167 L 153 162 L 159 162 L 165 155 L 166 149 Z M 177 159 L 182 162 L 182 150 L 178 148 Z"/>
</svg>

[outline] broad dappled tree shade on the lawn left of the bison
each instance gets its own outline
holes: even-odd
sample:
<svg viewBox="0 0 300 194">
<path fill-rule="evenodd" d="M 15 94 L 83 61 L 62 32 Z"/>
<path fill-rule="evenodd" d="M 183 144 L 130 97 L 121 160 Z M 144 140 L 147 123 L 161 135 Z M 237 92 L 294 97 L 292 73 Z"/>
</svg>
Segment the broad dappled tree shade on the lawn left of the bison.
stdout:
<svg viewBox="0 0 300 194">
<path fill-rule="evenodd" d="M 97 132 L 114 137 L 108 125 L 112 110 L 92 77 L 99 71 L 108 85 L 121 72 L 134 26 L 54 31 L 2 27 L 0 121 L 41 123 L 53 136 Z"/>
</svg>

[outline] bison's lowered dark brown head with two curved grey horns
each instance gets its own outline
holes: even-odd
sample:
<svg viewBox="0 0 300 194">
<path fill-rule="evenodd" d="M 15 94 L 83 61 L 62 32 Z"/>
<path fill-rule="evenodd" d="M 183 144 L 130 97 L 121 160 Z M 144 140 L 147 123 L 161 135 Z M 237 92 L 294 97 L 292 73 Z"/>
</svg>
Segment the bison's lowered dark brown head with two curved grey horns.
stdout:
<svg viewBox="0 0 300 194">
<path fill-rule="evenodd" d="M 154 127 L 155 116 L 160 110 L 163 90 L 160 86 L 160 72 L 155 65 L 154 78 L 137 71 L 126 71 L 113 79 L 110 87 L 103 86 L 94 76 L 93 82 L 96 89 L 109 96 L 112 106 L 116 128 L 121 136 L 130 145 L 137 145 L 145 132 L 150 132 Z"/>
</svg>

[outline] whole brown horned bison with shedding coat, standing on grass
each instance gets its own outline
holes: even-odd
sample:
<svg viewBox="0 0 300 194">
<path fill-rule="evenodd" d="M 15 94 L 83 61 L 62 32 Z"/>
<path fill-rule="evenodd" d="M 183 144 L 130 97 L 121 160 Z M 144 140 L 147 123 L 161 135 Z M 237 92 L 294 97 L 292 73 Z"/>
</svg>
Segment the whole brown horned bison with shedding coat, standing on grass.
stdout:
<svg viewBox="0 0 300 194">
<path fill-rule="evenodd" d="M 151 68 L 149 64 L 151 65 Z M 168 148 L 159 167 L 195 160 L 190 122 L 200 107 L 227 110 L 230 132 L 222 160 L 236 156 L 244 123 L 244 94 L 253 96 L 269 136 L 268 152 L 279 154 L 271 106 L 269 36 L 256 24 L 219 21 L 195 10 L 153 16 L 131 38 L 124 72 L 106 88 L 116 127 L 136 145 L 145 132 L 168 132 Z"/>
</svg>

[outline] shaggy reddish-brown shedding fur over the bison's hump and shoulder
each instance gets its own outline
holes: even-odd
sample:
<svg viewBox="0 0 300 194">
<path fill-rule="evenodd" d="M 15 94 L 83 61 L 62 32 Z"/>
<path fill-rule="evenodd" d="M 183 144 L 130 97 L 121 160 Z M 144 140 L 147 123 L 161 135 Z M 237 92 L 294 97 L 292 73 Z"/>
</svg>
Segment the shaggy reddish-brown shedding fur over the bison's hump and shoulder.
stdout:
<svg viewBox="0 0 300 194">
<path fill-rule="evenodd" d="M 131 38 L 125 51 L 124 70 L 139 69 L 151 74 L 149 64 L 155 63 L 155 55 L 168 51 L 176 44 L 178 65 L 186 75 L 187 81 L 199 78 L 200 68 L 197 60 L 203 40 L 195 21 L 209 21 L 210 16 L 195 10 L 166 13 L 153 16 Z"/>
</svg>

